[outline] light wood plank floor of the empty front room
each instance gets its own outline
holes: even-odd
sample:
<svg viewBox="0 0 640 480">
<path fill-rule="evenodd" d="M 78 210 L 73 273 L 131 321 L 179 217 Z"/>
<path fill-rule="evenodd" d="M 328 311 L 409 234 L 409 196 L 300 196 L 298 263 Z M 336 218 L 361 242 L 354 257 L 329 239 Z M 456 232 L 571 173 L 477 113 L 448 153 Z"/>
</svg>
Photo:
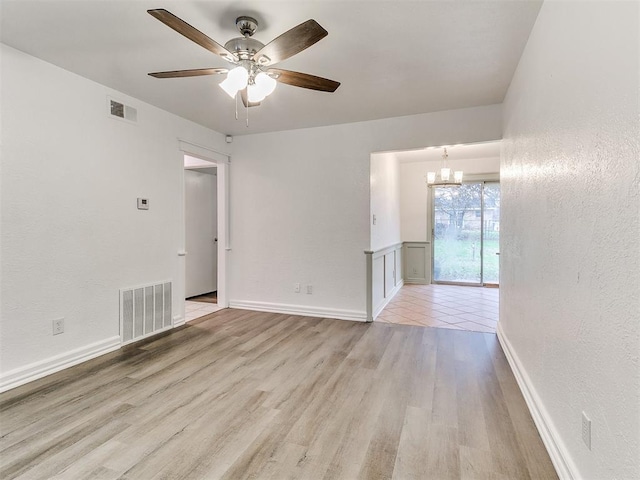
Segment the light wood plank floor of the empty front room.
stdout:
<svg viewBox="0 0 640 480">
<path fill-rule="evenodd" d="M 495 335 L 223 310 L 0 395 L 0 478 L 557 478 Z"/>
</svg>

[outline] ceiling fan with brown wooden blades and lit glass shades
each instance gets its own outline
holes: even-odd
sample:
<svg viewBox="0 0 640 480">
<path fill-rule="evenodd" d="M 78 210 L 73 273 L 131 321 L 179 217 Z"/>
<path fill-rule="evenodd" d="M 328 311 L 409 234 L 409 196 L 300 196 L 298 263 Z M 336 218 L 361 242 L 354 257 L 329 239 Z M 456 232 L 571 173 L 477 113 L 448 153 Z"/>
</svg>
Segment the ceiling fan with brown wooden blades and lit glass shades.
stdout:
<svg viewBox="0 0 640 480">
<path fill-rule="evenodd" d="M 222 46 L 163 8 L 147 12 L 189 40 L 235 65 L 231 69 L 199 68 L 154 72 L 149 74 L 152 77 L 181 78 L 227 74 L 220 87 L 232 98 L 236 98 L 240 93 L 245 107 L 260 105 L 260 102 L 273 92 L 277 82 L 322 92 L 335 92 L 340 86 L 339 82 L 327 78 L 272 68 L 272 65 L 300 53 L 327 36 L 328 32 L 315 20 L 307 20 L 264 45 L 252 38 L 258 28 L 257 20 L 246 16 L 238 17 L 236 26 L 242 36 L 232 38 Z"/>
</svg>

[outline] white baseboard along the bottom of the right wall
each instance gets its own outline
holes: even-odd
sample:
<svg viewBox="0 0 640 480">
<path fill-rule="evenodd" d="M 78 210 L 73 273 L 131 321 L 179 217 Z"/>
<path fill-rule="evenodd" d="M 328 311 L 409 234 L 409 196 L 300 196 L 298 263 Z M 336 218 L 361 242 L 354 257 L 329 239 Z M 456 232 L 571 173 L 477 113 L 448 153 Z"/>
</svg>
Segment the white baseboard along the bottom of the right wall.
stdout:
<svg viewBox="0 0 640 480">
<path fill-rule="evenodd" d="M 511 343 L 507 337 L 505 337 L 500 323 L 498 323 L 497 334 L 498 341 L 500 342 L 502 350 L 507 357 L 511 370 L 516 377 L 520 391 L 527 402 L 529 412 L 531 412 L 531 417 L 533 417 L 533 421 L 538 428 L 542 442 L 547 448 L 547 452 L 549 453 L 549 457 L 551 457 L 551 462 L 556 469 L 558 477 L 560 480 L 574 480 L 580 478 L 578 470 L 571 460 L 571 455 L 569 455 L 569 452 L 564 446 L 564 442 L 556 430 L 551 417 L 547 413 L 544 404 L 540 400 L 540 396 L 536 392 L 535 387 L 531 383 L 531 379 L 529 378 L 529 375 L 527 375 L 527 371 L 522 366 L 522 363 L 520 362 L 516 352 L 513 350 Z"/>
</svg>

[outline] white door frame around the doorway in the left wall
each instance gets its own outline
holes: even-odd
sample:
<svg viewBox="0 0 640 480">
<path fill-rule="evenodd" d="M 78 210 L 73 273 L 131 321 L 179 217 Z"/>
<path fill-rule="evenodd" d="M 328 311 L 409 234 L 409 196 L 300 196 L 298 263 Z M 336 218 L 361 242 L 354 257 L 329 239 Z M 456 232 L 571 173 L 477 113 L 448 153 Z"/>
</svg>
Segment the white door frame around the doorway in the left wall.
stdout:
<svg viewBox="0 0 640 480">
<path fill-rule="evenodd" d="M 228 252 L 231 250 L 231 236 L 229 229 L 229 174 L 231 157 L 222 152 L 218 152 L 209 147 L 198 145 L 185 140 L 178 139 L 180 152 L 180 185 L 181 185 L 181 205 L 180 205 L 180 226 L 178 265 L 176 278 L 179 279 L 174 294 L 174 304 L 178 305 L 180 313 L 179 319 L 174 319 L 174 326 L 184 323 L 185 319 L 185 282 L 186 282 L 186 261 L 185 256 L 189 254 L 185 250 L 186 245 L 186 223 L 185 223 L 185 176 L 184 176 L 184 156 L 201 158 L 215 164 L 216 187 L 217 187 L 217 211 L 218 211 L 218 306 L 220 309 L 229 307 L 229 297 L 227 291 L 228 272 Z"/>
</svg>

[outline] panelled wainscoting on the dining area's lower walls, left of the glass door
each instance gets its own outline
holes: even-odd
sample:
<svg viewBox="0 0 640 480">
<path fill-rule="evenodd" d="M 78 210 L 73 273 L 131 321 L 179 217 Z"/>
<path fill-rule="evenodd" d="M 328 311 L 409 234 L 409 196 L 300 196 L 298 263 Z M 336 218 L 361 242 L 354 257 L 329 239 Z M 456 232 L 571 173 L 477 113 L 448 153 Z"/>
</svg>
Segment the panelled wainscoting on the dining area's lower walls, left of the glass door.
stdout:
<svg viewBox="0 0 640 480">
<path fill-rule="evenodd" d="M 431 283 L 429 242 L 403 242 L 367 256 L 367 322 L 373 322 L 405 283 Z"/>
</svg>

